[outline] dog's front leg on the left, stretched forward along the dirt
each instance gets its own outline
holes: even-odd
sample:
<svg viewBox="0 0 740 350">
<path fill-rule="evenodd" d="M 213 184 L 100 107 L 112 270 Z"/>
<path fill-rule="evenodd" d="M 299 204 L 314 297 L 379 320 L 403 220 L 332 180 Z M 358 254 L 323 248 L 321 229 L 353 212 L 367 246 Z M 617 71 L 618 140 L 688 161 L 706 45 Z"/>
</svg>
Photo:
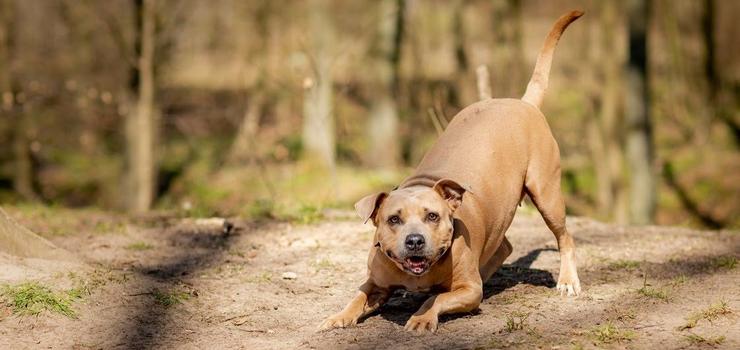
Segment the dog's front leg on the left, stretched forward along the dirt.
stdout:
<svg viewBox="0 0 740 350">
<path fill-rule="evenodd" d="M 390 298 L 391 290 L 376 286 L 368 279 L 360 286 L 360 293 L 349 303 L 344 310 L 327 318 L 316 329 L 317 332 L 332 328 L 354 326 L 357 320 L 377 310 Z"/>
</svg>

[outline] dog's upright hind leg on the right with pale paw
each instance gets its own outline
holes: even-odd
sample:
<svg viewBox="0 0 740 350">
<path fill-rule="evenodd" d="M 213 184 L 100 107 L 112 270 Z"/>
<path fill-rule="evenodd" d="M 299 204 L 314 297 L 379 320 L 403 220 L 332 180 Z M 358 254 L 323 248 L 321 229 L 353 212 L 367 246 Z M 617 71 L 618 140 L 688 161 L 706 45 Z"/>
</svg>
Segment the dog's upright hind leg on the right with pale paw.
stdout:
<svg viewBox="0 0 740 350">
<path fill-rule="evenodd" d="M 578 295 L 581 293 L 581 282 L 576 270 L 573 237 L 565 227 L 565 202 L 560 187 L 560 156 L 557 145 L 552 147 L 550 153 L 541 154 L 539 160 L 530 161 L 525 186 L 527 194 L 558 241 L 560 276 L 557 289 L 561 295 L 566 292 L 568 295 Z"/>
</svg>

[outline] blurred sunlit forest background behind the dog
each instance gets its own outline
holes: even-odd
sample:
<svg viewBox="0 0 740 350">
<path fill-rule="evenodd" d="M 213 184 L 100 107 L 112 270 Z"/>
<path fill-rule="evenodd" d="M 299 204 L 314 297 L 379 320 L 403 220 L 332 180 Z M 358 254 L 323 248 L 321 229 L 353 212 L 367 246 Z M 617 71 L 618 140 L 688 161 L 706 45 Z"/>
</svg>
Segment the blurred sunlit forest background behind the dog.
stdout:
<svg viewBox="0 0 740 350">
<path fill-rule="evenodd" d="M 349 208 L 479 99 L 477 67 L 521 97 L 574 9 L 543 106 L 569 214 L 737 228 L 733 0 L 0 0 L 0 204 Z"/>
</svg>

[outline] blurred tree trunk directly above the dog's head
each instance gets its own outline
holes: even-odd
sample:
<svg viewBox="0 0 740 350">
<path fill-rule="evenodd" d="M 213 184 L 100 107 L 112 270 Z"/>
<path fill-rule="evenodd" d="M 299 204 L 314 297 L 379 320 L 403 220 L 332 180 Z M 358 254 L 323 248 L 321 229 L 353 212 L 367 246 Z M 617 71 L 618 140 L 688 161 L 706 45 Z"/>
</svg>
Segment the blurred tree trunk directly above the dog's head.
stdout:
<svg viewBox="0 0 740 350">
<path fill-rule="evenodd" d="M 398 63 L 403 38 L 404 0 L 381 0 L 378 2 L 380 21 L 375 49 L 374 81 L 375 97 L 370 106 L 367 155 L 368 164 L 376 169 L 396 168 L 401 160 L 401 145 L 398 137 Z"/>
</svg>

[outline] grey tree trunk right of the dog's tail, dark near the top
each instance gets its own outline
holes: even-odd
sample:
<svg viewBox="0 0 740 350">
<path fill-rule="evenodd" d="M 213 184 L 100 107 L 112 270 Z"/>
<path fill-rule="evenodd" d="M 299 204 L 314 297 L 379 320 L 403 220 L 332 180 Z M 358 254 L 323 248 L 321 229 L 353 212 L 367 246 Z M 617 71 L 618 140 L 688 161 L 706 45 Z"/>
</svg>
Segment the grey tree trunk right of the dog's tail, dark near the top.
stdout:
<svg viewBox="0 0 740 350">
<path fill-rule="evenodd" d="M 627 154 L 631 173 L 632 223 L 649 224 L 655 216 L 652 123 L 649 115 L 646 2 L 629 2 L 627 65 Z"/>
</svg>

